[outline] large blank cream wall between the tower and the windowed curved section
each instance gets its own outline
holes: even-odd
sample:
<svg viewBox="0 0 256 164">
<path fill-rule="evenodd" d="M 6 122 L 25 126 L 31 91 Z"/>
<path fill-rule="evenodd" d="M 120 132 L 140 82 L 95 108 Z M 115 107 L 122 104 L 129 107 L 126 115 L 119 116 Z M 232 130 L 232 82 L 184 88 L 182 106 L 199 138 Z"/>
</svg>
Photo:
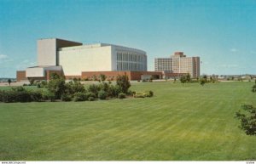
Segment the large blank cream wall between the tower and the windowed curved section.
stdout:
<svg viewBox="0 0 256 164">
<path fill-rule="evenodd" d="M 61 48 L 58 55 L 65 76 L 80 76 L 82 71 L 113 71 L 111 46 Z"/>
</svg>

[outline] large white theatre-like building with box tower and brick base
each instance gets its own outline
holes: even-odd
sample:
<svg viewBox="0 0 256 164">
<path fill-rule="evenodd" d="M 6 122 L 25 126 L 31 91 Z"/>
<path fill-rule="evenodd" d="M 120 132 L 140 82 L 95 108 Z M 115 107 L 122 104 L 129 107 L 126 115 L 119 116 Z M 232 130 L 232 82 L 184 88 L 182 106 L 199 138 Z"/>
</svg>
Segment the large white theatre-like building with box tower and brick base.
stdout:
<svg viewBox="0 0 256 164">
<path fill-rule="evenodd" d="M 67 78 L 83 78 L 90 75 L 90 72 L 112 72 L 110 74 L 115 78 L 126 71 L 131 75 L 131 79 L 140 80 L 138 75 L 143 76 L 147 72 L 146 52 L 113 44 L 83 45 L 81 42 L 50 38 L 38 40 L 38 65 L 28 67 L 26 71 L 17 71 L 16 77 L 17 82 L 20 82 L 30 78 L 49 80 L 50 72 Z M 134 74 L 133 71 L 137 73 Z"/>
</svg>

